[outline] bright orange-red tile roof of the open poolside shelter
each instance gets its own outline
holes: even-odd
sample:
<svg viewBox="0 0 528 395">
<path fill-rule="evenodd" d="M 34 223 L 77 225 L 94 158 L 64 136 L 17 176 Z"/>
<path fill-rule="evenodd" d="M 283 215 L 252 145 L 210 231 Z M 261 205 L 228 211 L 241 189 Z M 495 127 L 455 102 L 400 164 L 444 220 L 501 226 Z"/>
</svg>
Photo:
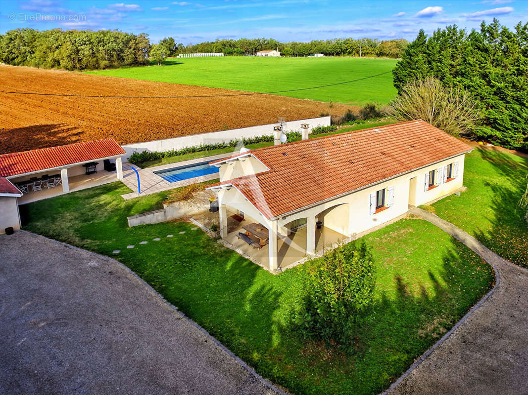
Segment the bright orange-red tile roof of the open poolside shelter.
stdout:
<svg viewBox="0 0 528 395">
<path fill-rule="evenodd" d="M 114 139 L 3 154 L 0 155 L 0 176 L 31 173 L 122 154 L 125 151 Z"/>
</svg>

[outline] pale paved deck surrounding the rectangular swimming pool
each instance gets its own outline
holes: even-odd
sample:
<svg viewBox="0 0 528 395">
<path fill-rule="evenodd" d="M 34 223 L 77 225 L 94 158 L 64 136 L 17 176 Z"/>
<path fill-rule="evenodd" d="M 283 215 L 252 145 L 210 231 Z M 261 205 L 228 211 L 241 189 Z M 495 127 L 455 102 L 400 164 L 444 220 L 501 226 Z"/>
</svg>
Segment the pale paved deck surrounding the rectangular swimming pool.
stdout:
<svg viewBox="0 0 528 395">
<path fill-rule="evenodd" d="M 153 193 L 168 191 L 169 189 L 174 189 L 180 186 L 185 186 L 185 185 L 195 184 L 197 182 L 217 179 L 218 173 L 214 173 L 214 174 L 202 175 L 199 177 L 194 177 L 191 179 L 177 181 L 177 182 L 168 182 L 162 179 L 162 177 L 155 174 L 154 172 L 158 172 L 161 170 L 167 170 L 167 169 L 173 169 L 173 167 L 187 166 L 187 165 L 203 163 L 203 162 L 212 162 L 217 159 L 222 159 L 224 157 L 228 157 L 231 155 L 233 155 L 233 153 L 229 152 L 229 153 L 220 154 L 220 155 L 199 157 L 196 159 L 191 159 L 190 161 L 182 161 L 182 162 L 169 163 L 169 164 L 161 165 L 161 166 L 147 167 L 146 169 L 139 169 L 139 167 L 134 166 L 133 164 L 128 163 L 128 162 L 123 163 L 123 179 L 121 180 L 121 182 L 124 183 L 126 186 L 128 186 L 134 192 L 126 193 L 124 195 L 121 195 L 121 197 L 125 200 L 134 199 L 134 197 L 138 197 L 138 196 L 146 196 L 146 195 L 150 195 Z M 138 195 L 137 193 L 137 176 L 134 170 L 132 170 L 132 166 L 136 167 L 139 173 L 139 180 L 141 184 L 141 194 L 140 195 Z"/>
</svg>

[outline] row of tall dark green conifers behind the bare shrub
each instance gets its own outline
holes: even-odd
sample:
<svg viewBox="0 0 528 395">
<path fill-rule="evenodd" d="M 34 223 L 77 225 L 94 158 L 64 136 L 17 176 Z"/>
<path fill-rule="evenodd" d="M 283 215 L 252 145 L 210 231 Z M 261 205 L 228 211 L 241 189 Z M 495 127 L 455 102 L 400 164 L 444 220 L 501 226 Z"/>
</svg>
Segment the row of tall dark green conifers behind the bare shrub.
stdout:
<svg viewBox="0 0 528 395">
<path fill-rule="evenodd" d="M 430 37 L 421 30 L 393 75 L 400 94 L 425 78 L 469 94 L 483 120 L 473 136 L 528 150 L 528 23 L 510 30 L 494 19 L 470 33 L 452 25 Z"/>
</svg>

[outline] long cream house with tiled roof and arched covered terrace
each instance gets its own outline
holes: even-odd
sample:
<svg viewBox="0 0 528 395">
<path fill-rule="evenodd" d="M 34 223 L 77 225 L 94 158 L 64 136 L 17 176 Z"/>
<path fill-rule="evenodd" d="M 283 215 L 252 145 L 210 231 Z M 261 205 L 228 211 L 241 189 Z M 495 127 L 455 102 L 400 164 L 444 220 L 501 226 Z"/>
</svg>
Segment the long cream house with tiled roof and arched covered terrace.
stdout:
<svg viewBox="0 0 528 395">
<path fill-rule="evenodd" d="M 275 272 L 455 192 L 471 150 L 427 122 L 402 122 L 241 150 L 211 163 L 220 182 L 209 189 L 222 239 Z M 258 225 L 261 243 L 244 238 L 244 223 Z"/>
</svg>

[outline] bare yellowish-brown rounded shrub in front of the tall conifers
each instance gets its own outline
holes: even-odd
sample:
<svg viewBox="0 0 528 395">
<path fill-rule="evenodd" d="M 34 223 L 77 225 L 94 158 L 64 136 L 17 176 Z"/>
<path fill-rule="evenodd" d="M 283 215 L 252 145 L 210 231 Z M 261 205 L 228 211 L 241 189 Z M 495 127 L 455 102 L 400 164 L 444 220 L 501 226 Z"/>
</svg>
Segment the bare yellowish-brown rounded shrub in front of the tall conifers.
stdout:
<svg viewBox="0 0 528 395">
<path fill-rule="evenodd" d="M 389 105 L 399 121 L 421 119 L 456 137 L 468 136 L 481 122 L 477 103 L 461 88 L 447 88 L 426 77 L 405 85 Z"/>
</svg>

